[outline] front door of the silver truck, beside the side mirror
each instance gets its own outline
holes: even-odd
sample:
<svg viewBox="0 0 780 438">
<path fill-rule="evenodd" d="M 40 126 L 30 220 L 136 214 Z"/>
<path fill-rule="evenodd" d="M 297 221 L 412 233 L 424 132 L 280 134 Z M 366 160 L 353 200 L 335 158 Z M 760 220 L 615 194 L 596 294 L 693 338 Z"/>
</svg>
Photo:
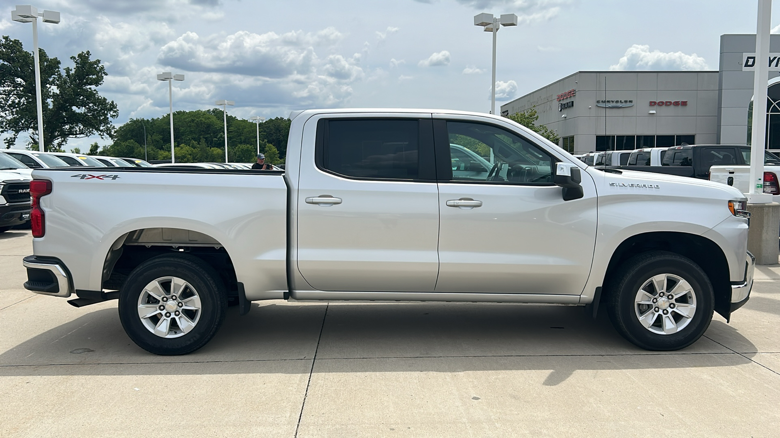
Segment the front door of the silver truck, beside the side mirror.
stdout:
<svg viewBox="0 0 780 438">
<path fill-rule="evenodd" d="M 492 119 L 434 115 L 439 176 L 436 291 L 580 295 L 593 261 L 596 192 L 564 201 L 552 169 L 562 161 Z M 452 145 L 489 161 L 480 175 L 449 167 Z M 448 172 L 449 169 L 449 172 Z"/>
</svg>

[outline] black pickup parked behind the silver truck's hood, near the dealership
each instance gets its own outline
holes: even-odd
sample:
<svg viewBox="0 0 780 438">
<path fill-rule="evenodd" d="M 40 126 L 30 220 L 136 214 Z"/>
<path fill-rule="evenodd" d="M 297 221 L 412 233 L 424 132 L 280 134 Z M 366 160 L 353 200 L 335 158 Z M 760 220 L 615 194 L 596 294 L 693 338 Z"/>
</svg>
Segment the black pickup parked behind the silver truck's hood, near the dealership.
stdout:
<svg viewBox="0 0 780 438">
<path fill-rule="evenodd" d="M 750 164 L 750 146 L 695 144 L 670 147 L 660 166 L 604 166 L 602 169 L 648 171 L 666 175 L 708 179 L 715 165 Z M 764 164 L 780 164 L 780 158 L 766 152 Z"/>
</svg>

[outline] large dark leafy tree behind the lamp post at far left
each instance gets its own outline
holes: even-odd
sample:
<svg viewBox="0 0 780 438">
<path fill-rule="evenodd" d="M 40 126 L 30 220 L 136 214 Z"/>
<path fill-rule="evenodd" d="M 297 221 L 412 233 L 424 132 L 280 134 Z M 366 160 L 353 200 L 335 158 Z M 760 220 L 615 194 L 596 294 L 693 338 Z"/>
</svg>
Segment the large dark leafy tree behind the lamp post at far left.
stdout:
<svg viewBox="0 0 780 438">
<path fill-rule="evenodd" d="M 41 101 L 44 116 L 44 147 L 62 150 L 72 138 L 95 134 L 112 137 L 112 118 L 119 115 L 116 104 L 97 93 L 106 76 L 100 59 L 91 60 L 90 52 L 71 56 L 73 67 L 60 69 L 57 58 L 49 58 L 43 49 L 41 63 Z M 0 132 L 10 133 L 5 147 L 26 133 L 30 145 L 38 143 L 34 59 L 21 41 L 2 37 L 0 41 Z"/>
</svg>

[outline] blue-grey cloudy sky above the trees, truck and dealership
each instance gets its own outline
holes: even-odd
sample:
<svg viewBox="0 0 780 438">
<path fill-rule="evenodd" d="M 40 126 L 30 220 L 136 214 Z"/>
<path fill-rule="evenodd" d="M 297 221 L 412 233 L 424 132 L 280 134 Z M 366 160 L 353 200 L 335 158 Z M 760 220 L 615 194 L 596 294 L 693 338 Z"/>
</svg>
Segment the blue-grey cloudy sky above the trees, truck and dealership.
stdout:
<svg viewBox="0 0 780 438">
<path fill-rule="evenodd" d="M 750 0 L 40 1 L 39 10 L 62 12 L 62 23 L 39 26 L 41 48 L 63 65 L 85 50 L 101 59 L 100 90 L 119 105 L 118 125 L 167 114 L 167 84 L 156 80 L 164 71 L 186 75 L 174 84 L 175 110 L 227 99 L 243 118 L 334 107 L 489 111 L 491 34 L 473 26 L 480 12 L 519 16 L 498 32 L 498 104 L 578 70 L 718 69 L 718 37 L 756 28 Z M 31 26 L 2 4 L 0 33 L 31 50 Z"/>
</svg>

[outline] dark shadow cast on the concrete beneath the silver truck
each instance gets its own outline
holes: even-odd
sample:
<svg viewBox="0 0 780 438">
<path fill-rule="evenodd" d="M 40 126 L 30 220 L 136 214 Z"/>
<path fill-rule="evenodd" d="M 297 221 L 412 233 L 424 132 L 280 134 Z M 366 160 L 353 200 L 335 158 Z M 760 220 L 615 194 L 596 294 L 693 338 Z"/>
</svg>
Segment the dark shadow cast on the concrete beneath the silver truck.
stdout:
<svg viewBox="0 0 780 438">
<path fill-rule="evenodd" d="M 683 351 L 641 350 L 612 329 L 603 309 L 593 320 L 581 307 L 339 303 L 327 306 L 323 324 L 325 311 L 324 303 L 254 304 L 247 316 L 230 308 L 204 348 L 158 356 L 129 340 L 115 308 L 97 309 L 2 353 L 0 376 L 300 373 L 280 364 L 310 361 L 315 351 L 317 373 L 550 369 L 546 385 L 578 369 L 750 363 L 707 337 Z M 725 323 L 712 324 L 750 344 Z"/>
</svg>

